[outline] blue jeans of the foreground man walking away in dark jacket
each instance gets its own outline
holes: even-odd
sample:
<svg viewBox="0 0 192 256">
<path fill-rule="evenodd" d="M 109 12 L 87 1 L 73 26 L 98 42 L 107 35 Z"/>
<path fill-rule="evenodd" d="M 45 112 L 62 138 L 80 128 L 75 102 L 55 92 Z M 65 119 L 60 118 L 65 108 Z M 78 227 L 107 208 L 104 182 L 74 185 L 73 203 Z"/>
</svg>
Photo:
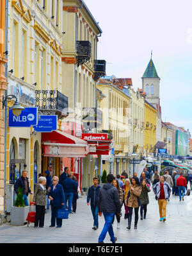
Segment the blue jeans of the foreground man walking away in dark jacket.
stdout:
<svg viewBox="0 0 192 256">
<path fill-rule="evenodd" d="M 114 236 L 114 233 L 113 233 L 112 221 L 113 221 L 113 218 L 115 216 L 115 213 L 103 212 L 103 215 L 104 215 L 106 223 L 104 224 L 102 232 L 100 233 L 98 242 L 99 243 L 103 242 L 105 237 L 106 237 L 106 234 L 109 232 L 109 235 L 111 237 L 110 240 L 111 240 L 112 243 L 114 243 L 115 242 L 115 236 Z"/>
</svg>

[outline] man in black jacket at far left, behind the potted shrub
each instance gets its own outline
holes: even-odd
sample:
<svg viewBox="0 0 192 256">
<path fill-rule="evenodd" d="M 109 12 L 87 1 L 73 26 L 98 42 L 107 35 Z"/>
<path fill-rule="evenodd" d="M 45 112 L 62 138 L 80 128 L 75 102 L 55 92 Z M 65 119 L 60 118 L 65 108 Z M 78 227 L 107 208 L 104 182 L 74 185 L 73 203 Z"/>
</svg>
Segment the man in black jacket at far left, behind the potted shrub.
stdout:
<svg viewBox="0 0 192 256">
<path fill-rule="evenodd" d="M 33 194 L 29 187 L 29 180 L 27 178 L 28 172 L 26 170 L 22 171 L 22 176 L 15 182 L 14 190 L 18 194 L 18 188 L 22 188 L 23 199 L 25 201 L 25 205 L 29 206 L 28 202 L 28 194 Z"/>
</svg>

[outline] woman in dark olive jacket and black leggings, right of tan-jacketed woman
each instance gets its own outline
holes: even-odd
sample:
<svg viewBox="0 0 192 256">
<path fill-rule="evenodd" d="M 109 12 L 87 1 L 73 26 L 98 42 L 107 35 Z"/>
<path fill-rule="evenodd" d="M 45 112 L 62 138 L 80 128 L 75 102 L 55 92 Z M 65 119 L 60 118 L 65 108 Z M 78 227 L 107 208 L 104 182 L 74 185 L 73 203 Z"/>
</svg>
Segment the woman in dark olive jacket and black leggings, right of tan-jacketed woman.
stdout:
<svg viewBox="0 0 192 256">
<path fill-rule="evenodd" d="M 149 203 L 148 201 L 148 192 L 150 192 L 150 188 L 147 185 L 146 180 L 142 180 L 141 182 L 141 195 L 140 195 L 140 214 L 141 214 L 141 220 L 143 219 L 143 210 L 144 210 L 144 219 L 146 219 L 147 214 L 147 205 Z"/>
</svg>

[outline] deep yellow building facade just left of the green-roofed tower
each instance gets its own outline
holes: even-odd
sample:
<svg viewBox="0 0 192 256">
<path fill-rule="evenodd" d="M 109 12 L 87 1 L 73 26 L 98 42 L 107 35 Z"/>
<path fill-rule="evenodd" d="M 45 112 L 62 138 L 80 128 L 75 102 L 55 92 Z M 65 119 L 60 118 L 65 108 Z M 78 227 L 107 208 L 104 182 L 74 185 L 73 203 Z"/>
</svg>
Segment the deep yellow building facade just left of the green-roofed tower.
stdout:
<svg viewBox="0 0 192 256">
<path fill-rule="evenodd" d="M 144 114 L 144 155 L 154 157 L 154 146 L 156 145 L 157 110 L 145 100 Z"/>
</svg>

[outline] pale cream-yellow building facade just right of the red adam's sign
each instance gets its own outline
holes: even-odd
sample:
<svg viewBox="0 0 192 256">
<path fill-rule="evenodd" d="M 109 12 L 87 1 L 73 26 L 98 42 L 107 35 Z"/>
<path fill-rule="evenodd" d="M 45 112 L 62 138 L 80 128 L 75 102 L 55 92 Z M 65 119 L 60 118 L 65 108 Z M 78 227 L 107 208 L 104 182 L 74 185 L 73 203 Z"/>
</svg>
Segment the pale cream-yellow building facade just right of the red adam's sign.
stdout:
<svg viewBox="0 0 192 256">
<path fill-rule="evenodd" d="M 100 79 L 97 88 L 104 94 L 100 102 L 103 113 L 102 130 L 111 131 L 113 134 L 113 144 L 115 155 L 113 162 L 109 157 L 103 157 L 104 164 L 102 171 L 106 169 L 108 173 L 114 175 L 121 174 L 122 171 L 129 171 L 129 143 L 131 137 L 131 98 L 129 90 L 121 90 L 111 81 Z"/>
</svg>

